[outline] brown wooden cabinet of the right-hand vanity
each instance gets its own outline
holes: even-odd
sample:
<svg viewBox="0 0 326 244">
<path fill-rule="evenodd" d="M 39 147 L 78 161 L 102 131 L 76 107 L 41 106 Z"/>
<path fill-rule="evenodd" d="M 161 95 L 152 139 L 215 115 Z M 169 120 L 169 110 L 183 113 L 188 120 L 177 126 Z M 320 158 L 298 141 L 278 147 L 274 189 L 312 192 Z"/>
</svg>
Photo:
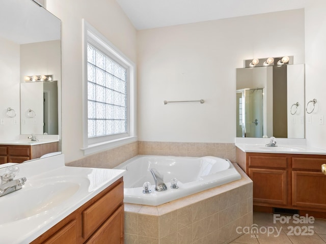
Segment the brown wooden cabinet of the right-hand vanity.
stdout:
<svg viewBox="0 0 326 244">
<path fill-rule="evenodd" d="M 320 170 L 326 155 L 244 153 L 236 148 L 236 158 L 253 180 L 254 210 L 279 207 L 326 218 L 326 175 Z"/>
</svg>

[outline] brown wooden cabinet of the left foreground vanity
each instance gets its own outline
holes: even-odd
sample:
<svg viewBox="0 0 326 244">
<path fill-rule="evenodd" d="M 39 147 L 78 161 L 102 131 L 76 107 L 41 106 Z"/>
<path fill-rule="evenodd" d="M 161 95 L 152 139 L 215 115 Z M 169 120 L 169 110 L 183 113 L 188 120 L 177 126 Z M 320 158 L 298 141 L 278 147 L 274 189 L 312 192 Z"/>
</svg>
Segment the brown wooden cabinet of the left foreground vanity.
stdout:
<svg viewBox="0 0 326 244">
<path fill-rule="evenodd" d="M 124 243 L 123 180 L 72 212 L 31 244 Z"/>
</svg>

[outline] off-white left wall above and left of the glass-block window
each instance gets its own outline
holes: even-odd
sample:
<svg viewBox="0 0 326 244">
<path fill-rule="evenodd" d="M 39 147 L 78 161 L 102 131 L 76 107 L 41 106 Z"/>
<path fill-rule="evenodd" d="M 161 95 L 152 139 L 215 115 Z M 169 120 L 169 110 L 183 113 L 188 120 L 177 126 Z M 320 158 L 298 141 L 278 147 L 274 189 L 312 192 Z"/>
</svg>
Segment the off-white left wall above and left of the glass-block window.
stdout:
<svg viewBox="0 0 326 244">
<path fill-rule="evenodd" d="M 66 162 L 83 158 L 82 19 L 136 60 L 136 30 L 115 0 L 47 0 L 62 20 L 62 151 Z"/>
</svg>

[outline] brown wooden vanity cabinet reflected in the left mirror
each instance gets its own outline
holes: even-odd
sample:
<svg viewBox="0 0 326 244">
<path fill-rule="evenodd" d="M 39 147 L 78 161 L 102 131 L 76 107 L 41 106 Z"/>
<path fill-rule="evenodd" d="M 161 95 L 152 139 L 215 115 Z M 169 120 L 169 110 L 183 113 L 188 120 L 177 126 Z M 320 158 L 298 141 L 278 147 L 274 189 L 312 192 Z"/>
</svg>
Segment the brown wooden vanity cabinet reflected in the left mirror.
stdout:
<svg viewBox="0 0 326 244">
<path fill-rule="evenodd" d="M 22 163 L 58 151 L 58 142 L 37 145 L 0 145 L 0 164 Z"/>
</svg>

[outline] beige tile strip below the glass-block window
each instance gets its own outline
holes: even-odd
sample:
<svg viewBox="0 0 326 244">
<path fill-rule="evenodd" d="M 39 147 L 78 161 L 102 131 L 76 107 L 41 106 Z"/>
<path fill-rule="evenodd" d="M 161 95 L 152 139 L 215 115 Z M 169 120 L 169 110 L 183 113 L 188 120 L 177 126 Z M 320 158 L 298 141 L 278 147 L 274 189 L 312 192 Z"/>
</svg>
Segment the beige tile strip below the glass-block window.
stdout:
<svg viewBox="0 0 326 244">
<path fill-rule="evenodd" d="M 66 163 L 67 166 L 88 168 L 114 168 L 138 155 L 138 142 L 132 142 L 113 149 L 89 155 L 83 159 Z"/>
</svg>

